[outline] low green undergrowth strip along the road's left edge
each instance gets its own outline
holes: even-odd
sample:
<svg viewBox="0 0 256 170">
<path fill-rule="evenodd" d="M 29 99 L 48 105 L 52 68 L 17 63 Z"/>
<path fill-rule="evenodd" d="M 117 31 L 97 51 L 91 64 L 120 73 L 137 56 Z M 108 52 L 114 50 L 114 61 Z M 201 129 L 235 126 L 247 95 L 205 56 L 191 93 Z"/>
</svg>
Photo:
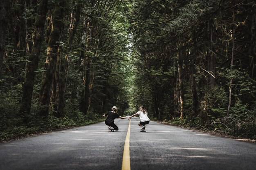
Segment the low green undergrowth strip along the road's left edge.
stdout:
<svg viewBox="0 0 256 170">
<path fill-rule="evenodd" d="M 69 118 L 68 116 L 65 116 L 64 118 L 55 118 L 54 116 L 49 116 L 47 120 L 43 118 L 32 119 L 28 124 L 0 126 L 0 143 L 33 135 L 39 135 L 42 133 L 94 124 L 97 122 L 102 122 L 103 120 L 104 118 L 92 114 L 86 116 L 80 115 L 76 118 Z M 13 121 L 15 122 L 19 120 Z"/>
</svg>

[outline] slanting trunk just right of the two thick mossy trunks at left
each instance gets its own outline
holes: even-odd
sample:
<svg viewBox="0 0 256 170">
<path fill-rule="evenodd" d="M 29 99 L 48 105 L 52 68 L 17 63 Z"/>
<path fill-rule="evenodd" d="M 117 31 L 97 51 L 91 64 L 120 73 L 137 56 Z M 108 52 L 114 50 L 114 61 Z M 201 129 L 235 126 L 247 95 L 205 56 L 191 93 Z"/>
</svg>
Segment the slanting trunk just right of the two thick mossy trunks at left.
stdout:
<svg viewBox="0 0 256 170">
<path fill-rule="evenodd" d="M 57 71 L 56 72 L 56 89 L 58 90 L 56 90 L 56 100 L 54 102 L 54 111 L 56 111 L 55 116 L 57 118 L 63 117 L 65 115 L 64 98 L 65 98 L 65 91 L 67 87 L 67 74 L 68 74 L 68 67 L 70 63 L 70 52 L 72 51 L 72 43 L 73 43 L 74 35 L 76 34 L 76 29 L 80 20 L 81 6 L 82 6 L 81 3 L 77 4 L 74 24 L 70 24 L 70 29 L 68 34 L 69 37 L 67 42 L 68 48 L 66 51 L 65 59 L 59 58 L 58 61 L 61 61 L 61 62 L 57 64 L 57 68 L 56 68 L 56 71 Z"/>
</svg>

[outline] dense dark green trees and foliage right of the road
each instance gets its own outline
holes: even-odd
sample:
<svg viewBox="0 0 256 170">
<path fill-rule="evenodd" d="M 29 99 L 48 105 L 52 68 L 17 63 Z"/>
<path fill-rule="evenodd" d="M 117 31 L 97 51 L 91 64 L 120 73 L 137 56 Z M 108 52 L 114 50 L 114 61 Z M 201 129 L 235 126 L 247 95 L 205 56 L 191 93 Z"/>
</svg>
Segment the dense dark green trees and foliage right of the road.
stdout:
<svg viewBox="0 0 256 170">
<path fill-rule="evenodd" d="M 135 102 L 159 120 L 255 139 L 255 2 L 139 0 L 130 9 Z"/>
</svg>

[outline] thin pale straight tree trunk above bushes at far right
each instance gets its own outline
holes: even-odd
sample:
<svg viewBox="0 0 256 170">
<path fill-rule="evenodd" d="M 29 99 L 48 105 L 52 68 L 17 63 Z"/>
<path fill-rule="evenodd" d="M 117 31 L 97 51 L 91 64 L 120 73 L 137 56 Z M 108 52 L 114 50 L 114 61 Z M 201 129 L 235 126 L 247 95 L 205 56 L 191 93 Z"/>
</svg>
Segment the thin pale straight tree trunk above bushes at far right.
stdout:
<svg viewBox="0 0 256 170">
<path fill-rule="evenodd" d="M 232 54 L 231 54 L 231 66 L 230 66 L 230 71 L 232 73 L 233 71 L 233 63 L 234 63 L 234 51 L 235 51 L 235 32 L 236 32 L 236 27 L 235 25 L 233 26 L 233 31 L 232 31 Z M 232 96 L 232 83 L 233 79 L 230 78 L 229 82 L 229 104 L 227 106 L 227 116 L 229 116 L 230 112 L 230 107 L 231 107 L 231 96 Z"/>
</svg>

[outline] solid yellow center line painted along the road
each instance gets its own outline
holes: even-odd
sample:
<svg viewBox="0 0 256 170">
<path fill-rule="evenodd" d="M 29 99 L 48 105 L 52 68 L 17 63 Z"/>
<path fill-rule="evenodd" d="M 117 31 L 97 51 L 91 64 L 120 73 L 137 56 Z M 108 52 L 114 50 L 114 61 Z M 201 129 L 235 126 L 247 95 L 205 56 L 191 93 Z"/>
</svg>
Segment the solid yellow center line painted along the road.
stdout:
<svg viewBox="0 0 256 170">
<path fill-rule="evenodd" d="M 131 126 L 131 121 L 129 121 L 128 131 L 127 131 L 125 142 L 124 142 L 122 170 L 131 169 L 130 167 L 130 126 Z"/>
</svg>

